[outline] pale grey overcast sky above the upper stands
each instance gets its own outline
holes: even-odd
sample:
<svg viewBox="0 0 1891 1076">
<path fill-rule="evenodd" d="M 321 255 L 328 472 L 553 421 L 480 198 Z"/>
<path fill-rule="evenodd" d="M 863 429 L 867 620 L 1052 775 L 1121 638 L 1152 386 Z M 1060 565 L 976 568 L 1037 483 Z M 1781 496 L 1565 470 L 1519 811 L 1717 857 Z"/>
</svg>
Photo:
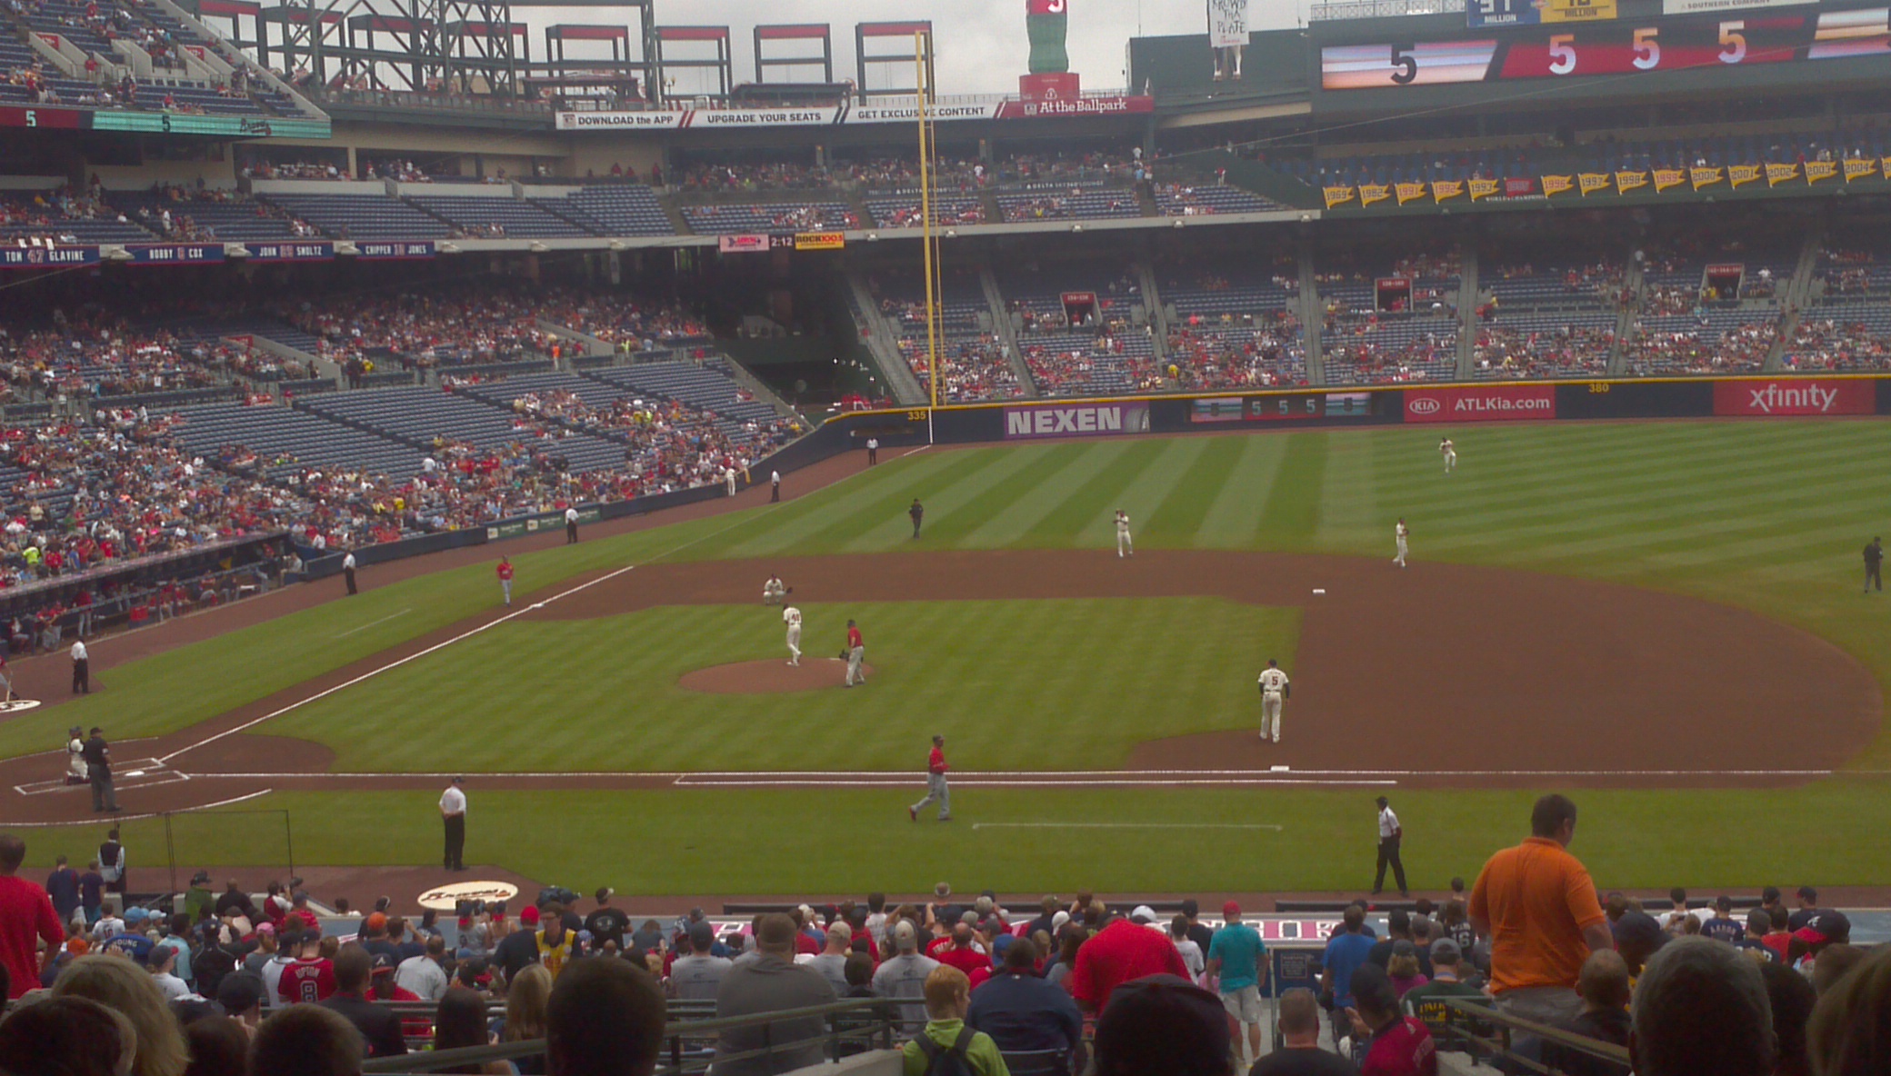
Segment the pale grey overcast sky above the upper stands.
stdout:
<svg viewBox="0 0 1891 1076">
<path fill-rule="evenodd" d="M 1248 23 L 1256 30 L 1293 26 L 1305 17 L 1307 0 L 1250 0 Z M 630 9 L 512 8 L 512 17 L 533 25 L 533 57 L 543 47 L 539 26 L 550 23 L 628 21 Z M 656 0 L 656 19 L 666 26 L 728 26 L 736 81 L 755 79 L 756 23 L 826 23 L 834 34 L 834 78 L 853 78 L 853 26 L 868 21 L 932 19 L 940 93 L 1017 93 L 1031 51 L 1025 38 L 1025 0 Z M 1129 38 L 1136 34 L 1205 34 L 1206 0 L 1070 0 L 1070 70 L 1084 76 L 1084 89 L 1116 89 L 1125 79 Z M 779 42 L 783 51 L 794 42 Z M 579 45 L 567 45 L 577 51 Z M 893 53 L 896 42 L 879 42 Z M 798 49 L 792 49 L 798 51 Z M 683 49 L 671 53 L 683 55 Z M 688 55 L 702 55 L 690 51 Z M 770 51 L 770 55 L 779 55 Z M 543 59 L 543 57 L 537 57 Z M 902 85 L 911 85 L 910 66 Z M 785 81 L 783 70 L 772 72 Z M 806 79 L 811 74 L 792 72 Z M 894 72 L 883 72 L 887 76 Z M 688 72 L 677 76 L 679 93 Z"/>
</svg>

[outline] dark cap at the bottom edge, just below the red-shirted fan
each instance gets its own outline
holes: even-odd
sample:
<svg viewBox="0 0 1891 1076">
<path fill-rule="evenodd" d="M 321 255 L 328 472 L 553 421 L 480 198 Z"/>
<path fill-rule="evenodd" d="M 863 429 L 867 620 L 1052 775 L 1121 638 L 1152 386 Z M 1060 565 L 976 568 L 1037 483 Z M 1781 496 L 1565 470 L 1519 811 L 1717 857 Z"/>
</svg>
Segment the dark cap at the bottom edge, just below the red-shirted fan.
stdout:
<svg viewBox="0 0 1891 1076">
<path fill-rule="evenodd" d="M 1227 1072 L 1227 1010 L 1180 976 L 1144 976 L 1110 993 L 1097 1017 L 1097 1076 Z"/>
</svg>

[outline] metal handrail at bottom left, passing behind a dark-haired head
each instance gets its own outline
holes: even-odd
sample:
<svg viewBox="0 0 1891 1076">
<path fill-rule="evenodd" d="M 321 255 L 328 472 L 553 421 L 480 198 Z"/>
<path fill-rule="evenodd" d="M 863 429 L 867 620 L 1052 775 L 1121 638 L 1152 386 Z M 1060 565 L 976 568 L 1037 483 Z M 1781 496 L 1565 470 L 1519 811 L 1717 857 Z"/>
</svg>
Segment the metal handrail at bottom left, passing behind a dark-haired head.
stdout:
<svg viewBox="0 0 1891 1076">
<path fill-rule="evenodd" d="M 826 1046 L 830 1048 L 828 1053 L 832 1055 L 834 1053 L 832 1048 L 840 1048 L 840 1044 L 843 1042 L 870 1044 L 874 1038 L 879 1038 L 883 1046 L 891 1048 L 893 1031 L 900 1023 L 900 1004 L 902 1004 L 900 998 L 847 998 L 832 1004 L 785 1008 L 779 1012 L 760 1012 L 751 1015 L 666 1021 L 664 1053 L 668 1055 L 668 1063 L 660 1063 L 658 1072 L 683 1072 L 686 1065 L 685 1061 L 686 1050 L 683 1046 L 685 1040 L 703 1044 L 705 1040 L 715 1038 L 717 1033 L 722 1031 L 734 1031 L 739 1027 L 768 1027 L 773 1023 L 785 1023 L 815 1015 L 828 1017 L 841 1014 L 868 1014 L 874 1019 L 872 1023 L 862 1027 L 836 1027 L 832 1021 L 828 1021 L 826 1031 L 823 1034 L 809 1038 L 796 1038 L 792 1042 L 779 1042 L 779 1044 L 768 1042 L 755 1050 L 726 1053 L 722 1055 L 722 1061 L 772 1057 L 781 1050 L 790 1050 L 790 1048 L 800 1050 L 809 1044 Z M 690 1051 L 694 1050 L 696 1048 L 690 1048 Z M 439 1072 L 441 1068 L 454 1068 L 460 1065 L 482 1065 L 486 1061 L 511 1061 L 514 1057 L 535 1057 L 541 1053 L 545 1053 L 545 1040 L 528 1038 L 520 1042 L 501 1042 L 497 1046 L 461 1046 L 458 1050 L 435 1050 L 425 1053 L 403 1053 L 397 1057 L 374 1057 L 361 1065 L 361 1072 L 408 1076 L 408 1074 Z M 696 1061 L 700 1059 L 690 1059 L 688 1065 L 692 1065 L 694 1068 L 702 1068 L 702 1065 L 698 1065 Z"/>
</svg>

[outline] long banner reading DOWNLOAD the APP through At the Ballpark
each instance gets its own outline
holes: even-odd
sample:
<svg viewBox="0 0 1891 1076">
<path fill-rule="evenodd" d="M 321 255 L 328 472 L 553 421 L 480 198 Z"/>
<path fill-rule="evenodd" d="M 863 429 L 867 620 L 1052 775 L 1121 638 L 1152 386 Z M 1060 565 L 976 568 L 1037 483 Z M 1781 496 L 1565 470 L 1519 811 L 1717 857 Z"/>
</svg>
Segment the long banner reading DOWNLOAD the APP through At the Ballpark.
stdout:
<svg viewBox="0 0 1891 1076">
<path fill-rule="evenodd" d="M 1061 100 L 951 100 L 927 106 L 934 123 L 957 119 L 1055 119 L 1155 112 L 1154 96 L 1070 96 Z M 915 123 L 919 106 L 828 104 L 819 108 L 677 108 L 651 112 L 560 112 L 558 130 L 702 130 L 705 127 L 843 127 Z"/>
</svg>

